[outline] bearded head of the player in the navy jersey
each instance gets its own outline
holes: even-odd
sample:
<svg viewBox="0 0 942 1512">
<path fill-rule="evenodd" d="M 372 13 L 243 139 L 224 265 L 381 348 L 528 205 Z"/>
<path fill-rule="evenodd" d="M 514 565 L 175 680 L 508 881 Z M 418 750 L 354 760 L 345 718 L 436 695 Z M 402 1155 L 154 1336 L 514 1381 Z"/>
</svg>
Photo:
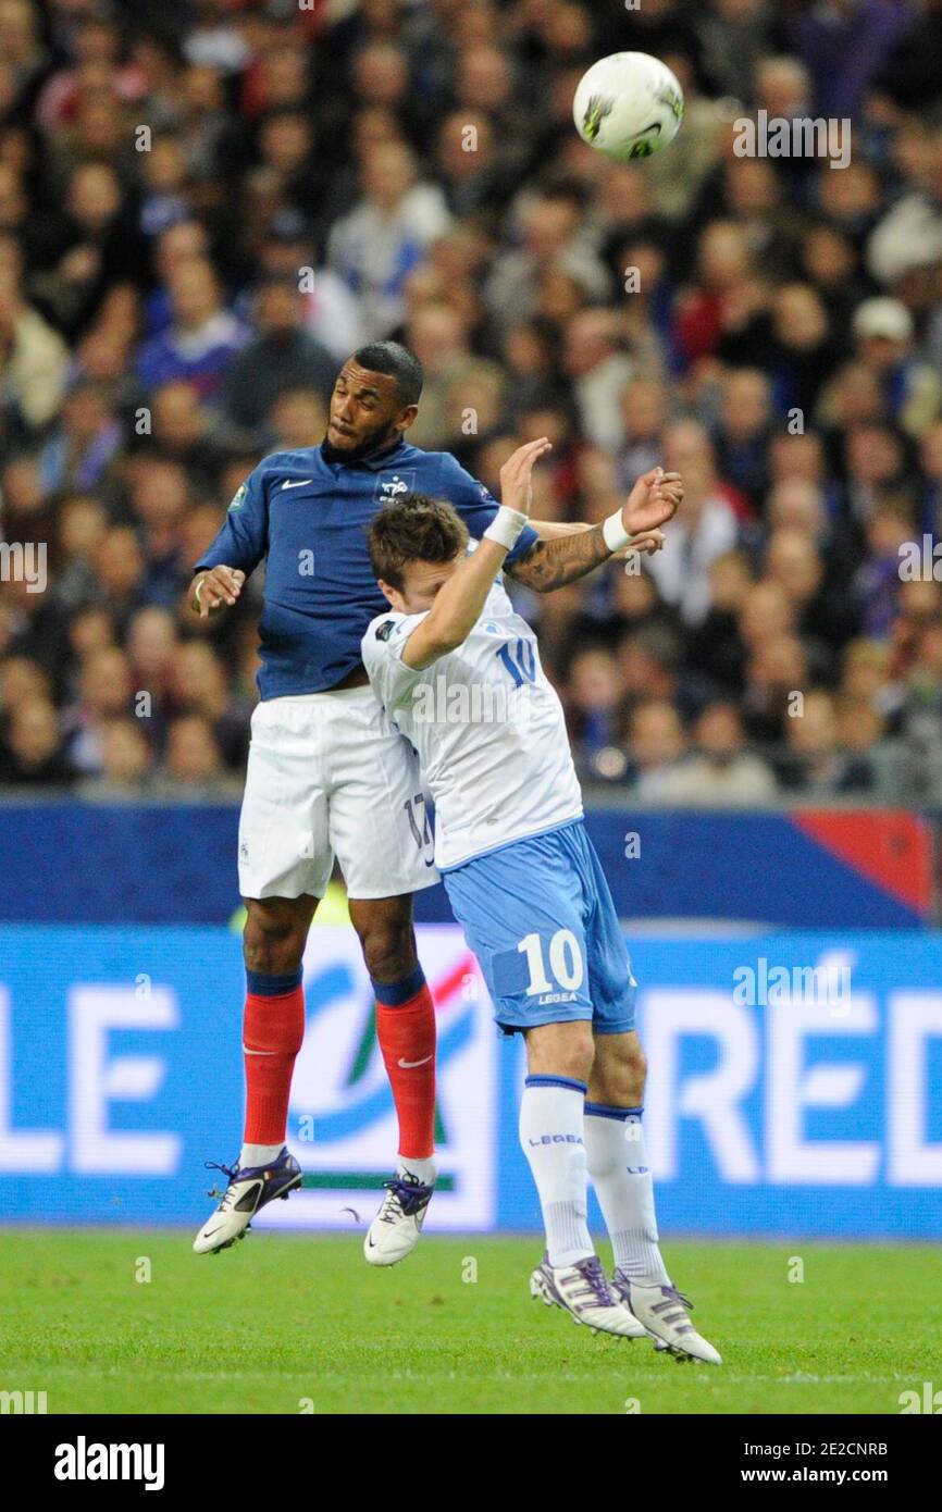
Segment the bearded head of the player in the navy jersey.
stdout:
<svg viewBox="0 0 942 1512">
<path fill-rule="evenodd" d="M 370 342 L 348 357 L 330 398 L 327 442 L 349 461 L 395 442 L 416 419 L 422 363 L 399 342 Z"/>
</svg>

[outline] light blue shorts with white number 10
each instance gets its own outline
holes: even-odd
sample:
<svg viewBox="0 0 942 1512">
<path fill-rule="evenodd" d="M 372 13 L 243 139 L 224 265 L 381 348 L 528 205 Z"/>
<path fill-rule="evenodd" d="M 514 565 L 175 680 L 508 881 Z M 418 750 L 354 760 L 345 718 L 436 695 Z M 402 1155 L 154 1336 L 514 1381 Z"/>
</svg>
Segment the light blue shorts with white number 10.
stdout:
<svg viewBox="0 0 942 1512">
<path fill-rule="evenodd" d="M 443 874 L 507 1034 L 590 1019 L 635 1027 L 631 960 L 602 863 L 581 820 L 513 841 Z"/>
</svg>

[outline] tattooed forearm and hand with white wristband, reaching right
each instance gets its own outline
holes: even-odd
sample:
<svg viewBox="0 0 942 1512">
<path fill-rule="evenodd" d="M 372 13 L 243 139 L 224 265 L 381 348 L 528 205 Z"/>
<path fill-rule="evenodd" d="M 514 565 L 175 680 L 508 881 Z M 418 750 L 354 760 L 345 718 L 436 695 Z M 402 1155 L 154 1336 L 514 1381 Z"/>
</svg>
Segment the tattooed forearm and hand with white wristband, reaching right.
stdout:
<svg viewBox="0 0 942 1512">
<path fill-rule="evenodd" d="M 508 562 L 507 572 L 535 593 L 552 593 L 553 588 L 578 582 L 626 546 L 650 550 L 653 543 L 656 549 L 659 528 L 673 519 L 682 497 L 680 475 L 652 467 L 638 478 L 624 508 L 609 516 L 603 525 L 538 540 L 525 556 Z"/>
</svg>

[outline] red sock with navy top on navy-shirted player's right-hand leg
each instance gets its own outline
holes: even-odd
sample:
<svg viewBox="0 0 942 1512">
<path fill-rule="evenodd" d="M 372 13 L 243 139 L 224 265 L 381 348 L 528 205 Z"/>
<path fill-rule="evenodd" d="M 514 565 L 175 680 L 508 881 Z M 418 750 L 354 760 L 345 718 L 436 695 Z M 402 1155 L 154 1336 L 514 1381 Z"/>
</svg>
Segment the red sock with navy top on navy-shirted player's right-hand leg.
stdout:
<svg viewBox="0 0 942 1512">
<path fill-rule="evenodd" d="M 376 1039 L 399 1119 L 399 1154 L 425 1160 L 435 1148 L 435 1004 L 422 968 L 405 983 L 375 981 L 373 989 Z M 410 996 L 396 1001 L 402 990 Z"/>
</svg>

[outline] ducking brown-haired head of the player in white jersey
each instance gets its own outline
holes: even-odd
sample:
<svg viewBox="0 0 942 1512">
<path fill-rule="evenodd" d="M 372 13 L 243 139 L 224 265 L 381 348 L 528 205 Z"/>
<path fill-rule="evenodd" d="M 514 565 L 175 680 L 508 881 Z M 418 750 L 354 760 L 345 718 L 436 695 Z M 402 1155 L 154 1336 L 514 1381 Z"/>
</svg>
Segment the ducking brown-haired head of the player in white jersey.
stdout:
<svg viewBox="0 0 942 1512">
<path fill-rule="evenodd" d="M 413 493 L 387 503 L 369 528 L 376 581 L 401 614 L 431 609 L 435 594 L 467 552 L 467 526 L 445 499 Z"/>
</svg>

